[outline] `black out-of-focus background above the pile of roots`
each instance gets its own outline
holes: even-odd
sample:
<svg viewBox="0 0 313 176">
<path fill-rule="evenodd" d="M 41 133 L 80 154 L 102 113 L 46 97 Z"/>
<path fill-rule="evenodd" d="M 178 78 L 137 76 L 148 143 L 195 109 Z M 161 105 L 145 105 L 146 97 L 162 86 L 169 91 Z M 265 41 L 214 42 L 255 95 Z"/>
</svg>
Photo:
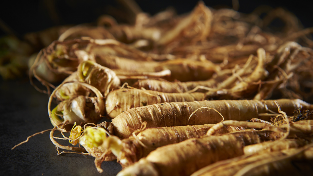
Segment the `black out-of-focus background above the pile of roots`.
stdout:
<svg viewBox="0 0 313 176">
<path fill-rule="evenodd" d="M 110 14 L 119 22 L 126 22 L 123 15 L 127 14 L 119 1 L 121 0 L 8 0 L 0 2 L 0 18 L 18 35 L 54 25 L 95 22 L 102 14 Z M 187 13 L 198 1 L 136 0 L 136 2 L 142 11 L 153 15 L 168 6 L 174 7 L 178 14 Z M 214 8 L 232 7 L 231 0 L 204 0 L 204 3 Z M 313 26 L 313 1 L 310 0 L 239 0 L 239 5 L 239 12 L 243 13 L 251 13 L 260 5 L 283 7 L 294 13 L 305 27 Z M 4 32 L 0 31 L 0 35 L 3 34 Z"/>
</svg>

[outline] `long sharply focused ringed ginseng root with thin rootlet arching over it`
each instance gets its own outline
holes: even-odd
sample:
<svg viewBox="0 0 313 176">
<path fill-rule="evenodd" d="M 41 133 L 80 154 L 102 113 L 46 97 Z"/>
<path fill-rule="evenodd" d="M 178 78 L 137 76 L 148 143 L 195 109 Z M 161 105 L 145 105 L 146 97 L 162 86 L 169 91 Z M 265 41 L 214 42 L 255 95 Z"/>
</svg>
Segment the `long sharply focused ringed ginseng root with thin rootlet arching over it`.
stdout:
<svg viewBox="0 0 313 176">
<path fill-rule="evenodd" d="M 293 115 L 293 111 L 299 108 L 313 109 L 313 105 L 299 99 L 279 99 L 277 102 L 287 115 Z M 132 132 L 140 129 L 142 122 L 147 122 L 147 127 L 173 127 L 213 124 L 221 121 L 221 115 L 212 109 L 201 109 L 191 116 L 196 109 L 201 107 L 217 110 L 224 120 L 246 121 L 251 118 L 261 118 L 261 120 L 270 121 L 270 116 L 259 116 L 259 114 L 269 111 L 278 113 L 274 100 L 172 102 L 132 108 L 116 116 L 111 124 L 116 136 L 127 138 Z"/>
</svg>

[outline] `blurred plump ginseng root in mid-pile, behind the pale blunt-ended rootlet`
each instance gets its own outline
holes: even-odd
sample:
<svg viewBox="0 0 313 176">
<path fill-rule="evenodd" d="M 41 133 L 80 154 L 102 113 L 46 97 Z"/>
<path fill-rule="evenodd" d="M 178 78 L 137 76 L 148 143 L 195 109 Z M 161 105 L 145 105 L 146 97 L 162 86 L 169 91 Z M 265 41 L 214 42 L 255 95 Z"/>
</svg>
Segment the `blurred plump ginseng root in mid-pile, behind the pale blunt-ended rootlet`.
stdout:
<svg viewBox="0 0 313 176">
<path fill-rule="evenodd" d="M 117 56 L 96 55 L 95 60 L 100 65 L 108 67 L 112 70 L 123 70 L 129 72 L 160 72 L 162 70 L 170 70 L 170 76 L 164 76 L 163 79 L 168 81 L 192 81 L 207 80 L 212 75 L 221 70 L 221 68 L 213 64 L 211 61 L 198 61 L 188 59 L 175 59 L 162 62 L 155 61 L 136 61 Z"/>
</svg>

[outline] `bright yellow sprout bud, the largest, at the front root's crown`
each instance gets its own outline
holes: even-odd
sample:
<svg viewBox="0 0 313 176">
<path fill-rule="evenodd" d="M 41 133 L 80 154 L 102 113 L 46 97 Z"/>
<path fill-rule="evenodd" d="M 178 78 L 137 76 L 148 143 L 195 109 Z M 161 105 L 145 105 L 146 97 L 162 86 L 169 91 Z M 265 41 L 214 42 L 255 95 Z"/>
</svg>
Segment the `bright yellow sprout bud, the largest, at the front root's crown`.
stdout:
<svg viewBox="0 0 313 176">
<path fill-rule="evenodd" d="M 82 139 L 85 144 L 90 147 L 99 147 L 106 139 L 105 129 L 103 128 L 86 128 L 86 133 L 82 136 Z"/>
</svg>

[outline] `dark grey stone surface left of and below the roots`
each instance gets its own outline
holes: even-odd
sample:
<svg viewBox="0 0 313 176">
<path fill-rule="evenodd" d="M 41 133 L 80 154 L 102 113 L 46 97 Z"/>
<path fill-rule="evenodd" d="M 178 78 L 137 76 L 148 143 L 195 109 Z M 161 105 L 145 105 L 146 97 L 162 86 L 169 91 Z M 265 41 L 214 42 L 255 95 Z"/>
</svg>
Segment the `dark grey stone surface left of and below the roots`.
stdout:
<svg viewBox="0 0 313 176">
<path fill-rule="evenodd" d="M 116 161 L 103 162 L 104 172 L 100 174 L 92 156 L 71 153 L 58 156 L 49 132 L 11 150 L 28 136 L 53 128 L 47 111 L 48 96 L 36 91 L 27 79 L 0 80 L 0 89 L 0 175 L 110 176 L 121 170 Z M 61 142 L 71 145 L 68 141 Z"/>
</svg>

